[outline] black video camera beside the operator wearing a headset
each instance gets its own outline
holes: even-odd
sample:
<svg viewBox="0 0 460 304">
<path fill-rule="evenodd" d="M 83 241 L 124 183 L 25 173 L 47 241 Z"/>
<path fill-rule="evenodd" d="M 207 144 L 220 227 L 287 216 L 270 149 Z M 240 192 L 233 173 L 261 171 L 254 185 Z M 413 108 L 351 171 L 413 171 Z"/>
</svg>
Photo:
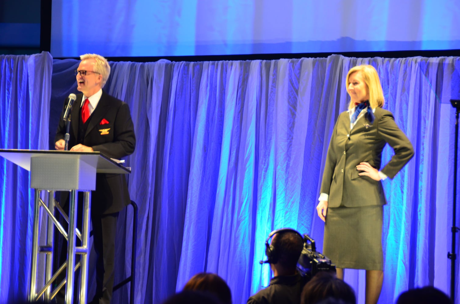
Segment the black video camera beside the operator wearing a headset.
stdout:
<svg viewBox="0 0 460 304">
<path fill-rule="evenodd" d="M 304 249 L 297 262 L 297 270 L 301 276 L 310 280 L 320 271 L 335 272 L 335 264 L 327 256 L 316 251 L 315 240 L 304 234 Z"/>
</svg>

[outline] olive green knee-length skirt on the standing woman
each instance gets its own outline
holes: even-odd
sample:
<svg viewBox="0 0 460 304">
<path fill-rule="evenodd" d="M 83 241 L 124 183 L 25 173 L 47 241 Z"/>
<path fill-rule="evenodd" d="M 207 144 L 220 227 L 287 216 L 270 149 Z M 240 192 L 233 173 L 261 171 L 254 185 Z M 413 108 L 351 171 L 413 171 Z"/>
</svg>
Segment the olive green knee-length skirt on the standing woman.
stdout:
<svg viewBox="0 0 460 304">
<path fill-rule="evenodd" d="M 323 254 L 337 268 L 383 270 L 383 206 L 328 208 Z"/>
</svg>

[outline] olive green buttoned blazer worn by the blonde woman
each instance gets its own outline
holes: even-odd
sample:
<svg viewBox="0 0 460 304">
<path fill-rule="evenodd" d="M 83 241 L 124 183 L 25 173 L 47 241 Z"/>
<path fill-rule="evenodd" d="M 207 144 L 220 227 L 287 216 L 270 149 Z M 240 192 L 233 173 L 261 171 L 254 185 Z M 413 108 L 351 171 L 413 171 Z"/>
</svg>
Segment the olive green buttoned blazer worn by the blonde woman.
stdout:
<svg viewBox="0 0 460 304">
<path fill-rule="evenodd" d="M 414 148 L 407 136 L 398 128 L 391 112 L 377 107 L 374 123 L 365 113 L 350 130 L 350 113 L 340 113 L 334 126 L 322 175 L 321 193 L 329 194 L 328 207 L 360 207 L 385 205 L 381 181 L 360 176 L 356 166 L 368 162 L 389 178 L 414 156 Z M 388 143 L 395 154 L 380 169 L 382 150 Z"/>
</svg>

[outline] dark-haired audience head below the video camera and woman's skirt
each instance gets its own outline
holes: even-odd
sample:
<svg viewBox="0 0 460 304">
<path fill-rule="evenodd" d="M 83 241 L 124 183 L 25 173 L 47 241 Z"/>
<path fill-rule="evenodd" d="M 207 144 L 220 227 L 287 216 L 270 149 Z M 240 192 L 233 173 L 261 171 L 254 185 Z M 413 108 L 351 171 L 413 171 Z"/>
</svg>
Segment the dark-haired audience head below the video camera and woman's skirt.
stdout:
<svg viewBox="0 0 460 304">
<path fill-rule="evenodd" d="M 305 284 L 301 295 L 301 304 L 337 303 L 334 300 L 356 304 L 356 296 L 350 285 L 330 272 L 318 272 Z"/>
</svg>

